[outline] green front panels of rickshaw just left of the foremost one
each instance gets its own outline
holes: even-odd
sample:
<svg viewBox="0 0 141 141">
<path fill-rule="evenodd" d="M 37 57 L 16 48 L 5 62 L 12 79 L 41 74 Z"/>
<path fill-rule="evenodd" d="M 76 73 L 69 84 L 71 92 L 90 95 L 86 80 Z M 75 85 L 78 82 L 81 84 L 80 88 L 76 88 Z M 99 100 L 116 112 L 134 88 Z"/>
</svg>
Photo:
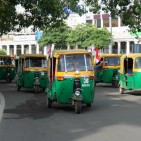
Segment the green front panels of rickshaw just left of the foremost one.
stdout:
<svg viewBox="0 0 141 141">
<path fill-rule="evenodd" d="M 18 75 L 17 85 L 24 88 L 34 88 L 35 83 L 35 71 L 23 72 L 22 75 Z M 44 75 L 43 75 L 44 74 Z M 47 73 L 39 72 L 39 87 L 46 88 L 47 86 Z"/>
</svg>

